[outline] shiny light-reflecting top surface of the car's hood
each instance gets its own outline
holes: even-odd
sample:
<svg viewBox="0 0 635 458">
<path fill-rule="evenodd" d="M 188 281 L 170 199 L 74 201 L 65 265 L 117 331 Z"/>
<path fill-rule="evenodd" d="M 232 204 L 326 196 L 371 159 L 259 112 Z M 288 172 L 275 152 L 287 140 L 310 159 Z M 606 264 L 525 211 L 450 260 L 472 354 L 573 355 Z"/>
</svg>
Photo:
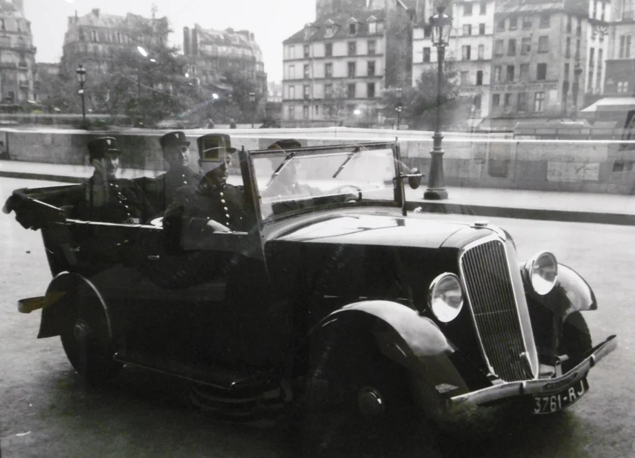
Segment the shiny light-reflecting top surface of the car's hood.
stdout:
<svg viewBox="0 0 635 458">
<path fill-rule="evenodd" d="M 466 228 L 470 229 L 454 221 L 347 214 L 290 228 L 274 240 L 439 248 L 455 232 Z"/>
</svg>

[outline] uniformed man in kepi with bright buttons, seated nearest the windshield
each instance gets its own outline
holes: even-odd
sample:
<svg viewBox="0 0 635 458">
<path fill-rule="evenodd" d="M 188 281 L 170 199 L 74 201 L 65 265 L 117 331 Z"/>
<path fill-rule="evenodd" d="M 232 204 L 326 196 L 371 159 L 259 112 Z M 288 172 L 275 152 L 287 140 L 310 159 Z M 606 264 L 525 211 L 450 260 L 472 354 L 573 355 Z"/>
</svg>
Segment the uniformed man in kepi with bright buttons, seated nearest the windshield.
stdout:
<svg viewBox="0 0 635 458">
<path fill-rule="evenodd" d="M 165 210 L 163 228 L 174 241 L 185 232 L 232 232 L 249 230 L 243 206 L 243 189 L 227 183 L 232 163 L 230 136 L 208 134 L 196 140 L 199 165 L 205 172 L 199 186 L 182 186 Z"/>
</svg>

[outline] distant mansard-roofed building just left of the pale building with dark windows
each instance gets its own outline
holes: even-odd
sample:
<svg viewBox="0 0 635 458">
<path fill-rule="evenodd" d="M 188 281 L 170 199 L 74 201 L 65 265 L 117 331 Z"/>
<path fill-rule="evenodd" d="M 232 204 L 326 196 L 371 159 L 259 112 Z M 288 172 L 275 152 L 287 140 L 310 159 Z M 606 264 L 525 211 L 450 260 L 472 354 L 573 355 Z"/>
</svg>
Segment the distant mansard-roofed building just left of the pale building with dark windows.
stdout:
<svg viewBox="0 0 635 458">
<path fill-rule="evenodd" d="M 198 24 L 183 28 L 183 53 L 189 71 L 211 91 L 230 91 L 223 75 L 236 71 L 254 81 L 261 94 L 268 93 L 263 54 L 249 30 L 203 29 Z"/>
</svg>

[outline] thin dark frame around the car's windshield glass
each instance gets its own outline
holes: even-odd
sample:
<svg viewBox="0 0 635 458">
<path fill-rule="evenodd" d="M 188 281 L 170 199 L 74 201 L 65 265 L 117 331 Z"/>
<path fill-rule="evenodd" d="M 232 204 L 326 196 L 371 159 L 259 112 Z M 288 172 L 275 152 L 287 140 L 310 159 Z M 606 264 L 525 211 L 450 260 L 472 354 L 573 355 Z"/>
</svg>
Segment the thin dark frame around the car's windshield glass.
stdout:
<svg viewBox="0 0 635 458">
<path fill-rule="evenodd" d="M 403 181 L 401 179 L 396 179 L 401 175 L 401 168 L 399 167 L 399 161 L 401 161 L 400 152 L 399 152 L 399 143 L 398 141 L 380 141 L 380 142 L 370 142 L 370 143 L 341 143 L 337 145 L 328 145 L 328 146 L 308 146 L 302 148 L 285 148 L 284 150 L 272 150 L 272 149 L 263 149 L 263 150 L 250 150 L 248 152 L 244 152 L 245 161 L 241 161 L 245 165 L 245 169 L 243 169 L 243 177 L 247 178 L 245 180 L 245 185 L 247 185 L 246 181 L 249 181 L 250 188 L 250 203 L 254 206 L 254 210 L 256 212 L 256 219 L 258 220 L 259 226 L 263 228 L 266 223 L 279 221 L 281 219 L 288 219 L 290 217 L 296 217 L 298 215 L 305 215 L 307 213 L 320 211 L 320 210 L 336 210 L 339 208 L 344 208 L 341 205 L 336 204 L 323 204 L 318 206 L 313 206 L 311 208 L 301 208 L 298 210 L 292 210 L 289 212 L 284 212 L 280 215 L 269 215 L 268 217 L 263 218 L 261 212 L 261 191 L 257 185 L 257 176 L 256 169 L 254 166 L 254 159 L 259 159 L 262 157 L 268 156 L 277 156 L 277 157 L 291 157 L 291 160 L 301 159 L 302 157 L 316 157 L 316 156 L 324 156 L 324 155 L 341 155 L 343 161 L 348 161 L 349 157 L 353 155 L 359 154 L 359 152 L 363 152 L 363 150 L 392 150 L 392 158 L 394 161 L 394 196 L 392 201 L 362 201 L 357 203 L 347 203 L 346 208 L 359 207 L 359 208 L 370 208 L 370 207 L 382 207 L 382 208 L 403 208 L 405 205 L 405 192 L 403 189 Z M 359 151 L 359 152 L 358 152 Z M 288 161 L 285 161 L 288 163 Z M 245 172 L 247 172 L 245 174 Z M 275 174 L 272 176 L 275 181 Z"/>
</svg>

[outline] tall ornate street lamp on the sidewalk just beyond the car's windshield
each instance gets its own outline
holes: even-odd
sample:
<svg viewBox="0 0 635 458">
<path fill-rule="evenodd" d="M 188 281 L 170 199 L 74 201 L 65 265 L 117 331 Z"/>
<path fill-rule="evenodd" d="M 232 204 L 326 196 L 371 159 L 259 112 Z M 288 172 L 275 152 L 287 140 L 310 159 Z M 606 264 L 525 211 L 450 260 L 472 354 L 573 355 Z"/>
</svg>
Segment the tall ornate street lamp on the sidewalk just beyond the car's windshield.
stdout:
<svg viewBox="0 0 635 458">
<path fill-rule="evenodd" d="M 427 181 L 427 190 L 423 193 L 423 199 L 441 200 L 447 199 L 447 190 L 443 184 L 443 148 L 441 148 L 441 86 L 443 81 L 443 61 L 445 60 L 445 46 L 450 43 L 450 30 L 452 19 L 444 13 L 445 6 L 436 8 L 439 14 L 430 18 L 432 27 L 432 45 L 436 46 L 436 119 L 434 122 L 434 135 L 432 135 L 432 150 L 430 150 L 430 175 Z"/>
</svg>

